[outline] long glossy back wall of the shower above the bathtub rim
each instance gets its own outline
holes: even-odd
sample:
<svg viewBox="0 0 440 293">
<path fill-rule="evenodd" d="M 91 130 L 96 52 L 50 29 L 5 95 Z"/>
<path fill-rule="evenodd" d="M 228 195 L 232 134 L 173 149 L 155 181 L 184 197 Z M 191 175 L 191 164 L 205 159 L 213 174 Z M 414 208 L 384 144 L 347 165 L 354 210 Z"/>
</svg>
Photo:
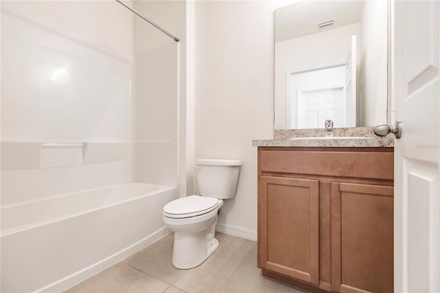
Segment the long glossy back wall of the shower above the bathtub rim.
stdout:
<svg viewBox="0 0 440 293">
<path fill-rule="evenodd" d="M 2 205 L 131 181 L 132 35 L 115 1 L 2 1 Z"/>
</svg>

